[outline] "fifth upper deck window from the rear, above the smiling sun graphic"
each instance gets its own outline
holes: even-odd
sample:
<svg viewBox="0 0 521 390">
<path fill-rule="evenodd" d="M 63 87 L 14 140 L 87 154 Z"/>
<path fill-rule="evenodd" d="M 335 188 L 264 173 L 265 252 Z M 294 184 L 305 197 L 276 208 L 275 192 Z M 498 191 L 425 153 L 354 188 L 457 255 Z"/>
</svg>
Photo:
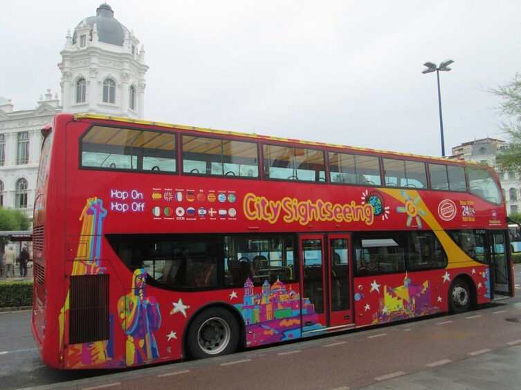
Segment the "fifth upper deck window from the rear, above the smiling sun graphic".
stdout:
<svg viewBox="0 0 521 390">
<path fill-rule="evenodd" d="M 401 159 L 383 159 L 385 186 L 427 188 L 425 163 Z"/>
</svg>

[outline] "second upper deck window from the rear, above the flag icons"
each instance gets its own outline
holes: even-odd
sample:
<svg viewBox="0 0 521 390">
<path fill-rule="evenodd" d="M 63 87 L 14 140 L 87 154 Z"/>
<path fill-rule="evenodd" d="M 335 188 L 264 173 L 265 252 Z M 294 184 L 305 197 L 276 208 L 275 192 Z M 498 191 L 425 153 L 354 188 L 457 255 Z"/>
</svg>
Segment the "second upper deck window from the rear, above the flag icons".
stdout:
<svg viewBox="0 0 521 390">
<path fill-rule="evenodd" d="M 257 143 L 183 135 L 183 173 L 259 177 Z"/>
</svg>

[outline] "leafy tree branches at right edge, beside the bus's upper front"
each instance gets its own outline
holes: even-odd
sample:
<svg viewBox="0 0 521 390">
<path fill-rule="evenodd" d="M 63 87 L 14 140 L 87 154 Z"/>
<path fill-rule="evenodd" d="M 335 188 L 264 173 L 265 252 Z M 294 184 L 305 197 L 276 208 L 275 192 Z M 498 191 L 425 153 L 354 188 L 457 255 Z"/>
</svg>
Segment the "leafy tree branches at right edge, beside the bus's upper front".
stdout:
<svg viewBox="0 0 521 390">
<path fill-rule="evenodd" d="M 500 97 L 497 108 L 500 115 L 509 118 L 502 121 L 500 128 L 509 138 L 509 148 L 497 156 L 497 165 L 503 171 L 521 170 L 521 74 L 504 86 L 492 88 L 490 92 Z"/>
</svg>

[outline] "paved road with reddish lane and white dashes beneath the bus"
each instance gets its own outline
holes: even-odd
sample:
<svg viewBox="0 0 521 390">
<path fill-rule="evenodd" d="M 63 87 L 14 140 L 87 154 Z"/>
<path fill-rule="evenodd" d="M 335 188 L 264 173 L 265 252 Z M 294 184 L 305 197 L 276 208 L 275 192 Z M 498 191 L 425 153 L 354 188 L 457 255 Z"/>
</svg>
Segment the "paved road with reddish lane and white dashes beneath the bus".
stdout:
<svg viewBox="0 0 521 390">
<path fill-rule="evenodd" d="M 516 273 L 520 271 L 521 267 L 516 267 Z M 520 290 L 516 292 L 521 295 Z M 39 361 L 28 330 L 30 311 L 0 313 L 0 387 L 496 389 L 500 384 L 508 387 L 509 381 L 521 382 L 519 321 L 521 297 L 515 297 L 461 315 L 441 315 L 210 360 L 124 372 L 64 372 L 48 369 Z"/>
</svg>

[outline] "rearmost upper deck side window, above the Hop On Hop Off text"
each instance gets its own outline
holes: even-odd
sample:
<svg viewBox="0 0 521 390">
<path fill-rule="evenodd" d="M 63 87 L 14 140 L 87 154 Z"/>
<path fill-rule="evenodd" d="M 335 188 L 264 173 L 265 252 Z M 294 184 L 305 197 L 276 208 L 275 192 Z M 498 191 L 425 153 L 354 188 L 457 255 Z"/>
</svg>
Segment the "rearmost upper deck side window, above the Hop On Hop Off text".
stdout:
<svg viewBox="0 0 521 390">
<path fill-rule="evenodd" d="M 93 126 L 81 139 L 86 168 L 176 172 L 176 135 L 158 131 Z"/>
</svg>

